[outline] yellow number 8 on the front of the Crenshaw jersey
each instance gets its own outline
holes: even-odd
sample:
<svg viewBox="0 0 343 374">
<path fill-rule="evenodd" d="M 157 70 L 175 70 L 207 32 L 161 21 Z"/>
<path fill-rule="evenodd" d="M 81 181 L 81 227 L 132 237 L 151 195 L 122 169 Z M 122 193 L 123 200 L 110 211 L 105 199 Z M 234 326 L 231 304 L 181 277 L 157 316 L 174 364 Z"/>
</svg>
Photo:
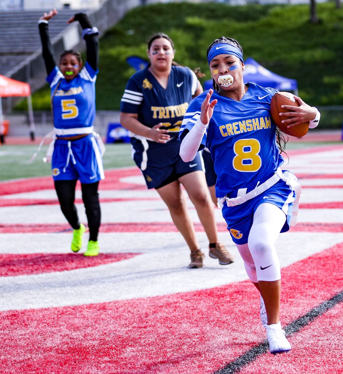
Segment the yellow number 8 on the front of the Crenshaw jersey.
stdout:
<svg viewBox="0 0 343 374">
<path fill-rule="evenodd" d="M 233 151 L 236 154 L 232 160 L 233 167 L 238 171 L 257 171 L 262 164 L 261 157 L 258 155 L 260 150 L 261 145 L 257 139 L 241 139 L 236 141 L 233 145 Z"/>
</svg>

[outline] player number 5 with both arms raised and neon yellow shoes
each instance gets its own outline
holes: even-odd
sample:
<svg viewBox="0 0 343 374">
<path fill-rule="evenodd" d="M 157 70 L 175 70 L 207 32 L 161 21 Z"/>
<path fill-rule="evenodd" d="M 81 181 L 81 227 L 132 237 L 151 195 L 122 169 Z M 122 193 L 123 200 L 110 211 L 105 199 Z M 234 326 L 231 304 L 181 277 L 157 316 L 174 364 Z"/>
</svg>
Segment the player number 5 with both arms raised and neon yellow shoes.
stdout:
<svg viewBox="0 0 343 374">
<path fill-rule="evenodd" d="M 85 256 L 99 253 L 98 232 L 100 227 L 99 180 L 104 179 L 102 153 L 104 149 L 99 137 L 93 134 L 95 117 L 95 80 L 98 73 L 98 29 L 92 27 L 85 13 L 77 13 L 67 22 L 79 21 L 87 46 L 87 61 L 82 69 L 79 52 L 67 50 L 62 53 L 59 67 L 56 64 L 49 38 L 48 21 L 58 12 L 45 13 L 39 19 L 43 58 L 47 81 L 51 88 L 54 141 L 52 153 L 52 175 L 61 210 L 74 229 L 71 250 L 82 247 L 85 226 L 79 222 L 75 201 L 75 187 L 79 179 L 82 200 L 86 208 L 89 227 L 89 242 Z M 101 148 L 101 150 L 100 150 Z"/>
</svg>

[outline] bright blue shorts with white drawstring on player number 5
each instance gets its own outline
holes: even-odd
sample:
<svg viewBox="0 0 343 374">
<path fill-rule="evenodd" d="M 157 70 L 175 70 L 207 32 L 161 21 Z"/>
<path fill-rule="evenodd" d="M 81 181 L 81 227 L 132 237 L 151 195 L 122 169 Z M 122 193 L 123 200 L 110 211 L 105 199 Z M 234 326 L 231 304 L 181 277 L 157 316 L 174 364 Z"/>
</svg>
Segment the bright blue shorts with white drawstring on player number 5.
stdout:
<svg viewBox="0 0 343 374">
<path fill-rule="evenodd" d="M 74 158 L 71 154 L 68 157 L 67 140 L 55 141 L 51 161 L 54 181 L 79 179 L 81 183 L 89 184 L 104 179 L 100 150 L 92 134 L 70 141 L 70 148 Z"/>
</svg>

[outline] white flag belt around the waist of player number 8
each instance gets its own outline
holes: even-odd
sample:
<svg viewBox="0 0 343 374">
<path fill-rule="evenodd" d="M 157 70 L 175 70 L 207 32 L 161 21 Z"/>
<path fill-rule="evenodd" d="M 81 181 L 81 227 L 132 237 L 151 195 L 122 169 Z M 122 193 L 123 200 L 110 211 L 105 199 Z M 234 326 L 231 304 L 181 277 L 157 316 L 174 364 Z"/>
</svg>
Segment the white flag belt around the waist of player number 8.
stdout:
<svg viewBox="0 0 343 374">
<path fill-rule="evenodd" d="M 274 184 L 278 183 L 280 179 L 282 179 L 287 184 L 287 186 L 290 186 L 292 190 L 295 192 L 295 194 L 297 195 L 297 199 L 293 203 L 292 218 L 291 218 L 291 226 L 295 226 L 297 224 L 301 186 L 293 174 L 291 174 L 290 172 L 282 173 L 280 168 L 276 170 L 276 172 L 274 173 L 272 177 L 267 179 L 262 184 L 257 183 L 257 186 L 248 193 L 246 193 L 247 188 L 239 188 L 239 190 L 237 191 L 237 197 L 231 197 L 231 198 L 227 196 L 218 197 L 218 208 L 222 209 L 225 201 L 226 201 L 226 205 L 229 207 L 243 204 L 246 201 L 268 190 L 268 188 L 274 186 Z M 287 199 L 285 203 L 287 202 L 290 202 L 290 201 L 288 201 Z"/>
</svg>

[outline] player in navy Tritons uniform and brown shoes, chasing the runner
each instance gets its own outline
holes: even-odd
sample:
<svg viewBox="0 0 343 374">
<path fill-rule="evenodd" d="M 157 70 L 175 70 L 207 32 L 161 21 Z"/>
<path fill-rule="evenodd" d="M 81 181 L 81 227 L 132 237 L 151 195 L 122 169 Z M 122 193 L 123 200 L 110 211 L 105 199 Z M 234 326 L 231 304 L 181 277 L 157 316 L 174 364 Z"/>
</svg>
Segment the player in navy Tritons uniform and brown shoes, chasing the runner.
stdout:
<svg viewBox="0 0 343 374">
<path fill-rule="evenodd" d="M 148 42 L 150 64 L 129 80 L 121 100 L 120 122 L 132 133 L 134 161 L 148 188 L 155 188 L 168 206 L 172 220 L 190 248 L 190 268 L 203 266 L 194 226 L 187 210 L 186 189 L 209 239 L 209 256 L 221 265 L 233 262 L 218 241 L 214 206 L 206 187 L 202 158 L 183 162 L 178 132 L 192 97 L 202 92 L 193 71 L 173 62 L 174 45 L 165 34 Z"/>
</svg>

